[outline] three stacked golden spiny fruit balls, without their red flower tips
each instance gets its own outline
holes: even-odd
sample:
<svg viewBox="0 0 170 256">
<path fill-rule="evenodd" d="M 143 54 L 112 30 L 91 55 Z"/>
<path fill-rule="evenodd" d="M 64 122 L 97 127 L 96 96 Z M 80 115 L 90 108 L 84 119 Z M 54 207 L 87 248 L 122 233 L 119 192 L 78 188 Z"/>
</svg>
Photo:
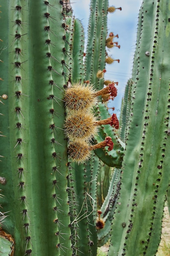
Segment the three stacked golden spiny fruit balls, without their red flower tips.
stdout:
<svg viewBox="0 0 170 256">
<path fill-rule="evenodd" d="M 78 164 L 86 162 L 90 155 L 89 140 L 97 134 L 98 127 L 94 125 L 96 117 L 93 108 L 97 103 L 92 85 L 74 83 L 65 90 L 65 135 L 69 139 L 68 155 Z"/>
</svg>

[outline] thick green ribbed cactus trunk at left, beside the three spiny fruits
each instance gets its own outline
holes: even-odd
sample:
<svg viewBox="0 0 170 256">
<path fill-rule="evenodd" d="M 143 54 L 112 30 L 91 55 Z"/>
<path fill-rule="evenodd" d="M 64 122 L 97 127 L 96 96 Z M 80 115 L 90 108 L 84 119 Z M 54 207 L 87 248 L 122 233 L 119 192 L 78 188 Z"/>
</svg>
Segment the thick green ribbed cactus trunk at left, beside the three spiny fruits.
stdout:
<svg viewBox="0 0 170 256">
<path fill-rule="evenodd" d="M 15 255 L 31 255 L 31 251 L 71 255 L 61 100 L 65 84 L 62 5 L 19 0 L 2 5 L 1 20 L 9 26 L 4 27 L 2 38 L 0 88 L 0 95 L 8 95 L 1 124 L 7 136 L 1 142 L 0 168 L 7 180 L 3 193 L 8 202 L 3 210 L 10 211 L 4 229 L 15 237 Z M 61 216 L 65 217 L 61 220 Z"/>
</svg>

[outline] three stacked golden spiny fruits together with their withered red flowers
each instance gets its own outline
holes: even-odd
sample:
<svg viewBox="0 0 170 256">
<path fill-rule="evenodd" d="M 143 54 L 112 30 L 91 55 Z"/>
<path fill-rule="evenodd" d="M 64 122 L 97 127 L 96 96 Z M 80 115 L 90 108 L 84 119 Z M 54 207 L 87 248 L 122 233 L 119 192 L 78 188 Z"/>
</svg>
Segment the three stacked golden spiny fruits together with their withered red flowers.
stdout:
<svg viewBox="0 0 170 256">
<path fill-rule="evenodd" d="M 108 146 L 108 150 L 113 149 L 113 142 L 110 137 L 106 137 L 96 145 L 91 145 L 90 140 L 97 135 L 98 126 L 101 124 L 114 125 L 118 129 L 116 114 L 104 120 L 97 121 L 93 108 L 97 103 L 97 97 L 108 94 L 116 97 L 117 89 L 111 82 L 106 88 L 100 91 L 94 90 L 90 84 L 74 83 L 65 90 L 64 102 L 67 112 L 64 129 L 68 138 L 68 155 L 73 162 L 78 164 L 86 162 L 91 156 L 91 150 Z"/>
</svg>

